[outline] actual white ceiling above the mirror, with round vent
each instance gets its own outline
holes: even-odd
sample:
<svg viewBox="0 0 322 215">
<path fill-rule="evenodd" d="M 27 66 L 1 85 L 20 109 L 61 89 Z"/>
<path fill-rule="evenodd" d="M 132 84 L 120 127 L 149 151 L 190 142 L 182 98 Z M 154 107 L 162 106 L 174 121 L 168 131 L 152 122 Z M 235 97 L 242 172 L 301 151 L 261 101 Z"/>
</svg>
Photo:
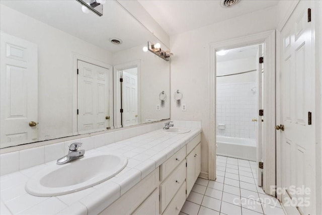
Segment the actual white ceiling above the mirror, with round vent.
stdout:
<svg viewBox="0 0 322 215">
<path fill-rule="evenodd" d="M 223 8 L 221 0 L 138 0 L 170 36 L 278 4 L 278 0 L 239 1 L 232 8 Z"/>
</svg>

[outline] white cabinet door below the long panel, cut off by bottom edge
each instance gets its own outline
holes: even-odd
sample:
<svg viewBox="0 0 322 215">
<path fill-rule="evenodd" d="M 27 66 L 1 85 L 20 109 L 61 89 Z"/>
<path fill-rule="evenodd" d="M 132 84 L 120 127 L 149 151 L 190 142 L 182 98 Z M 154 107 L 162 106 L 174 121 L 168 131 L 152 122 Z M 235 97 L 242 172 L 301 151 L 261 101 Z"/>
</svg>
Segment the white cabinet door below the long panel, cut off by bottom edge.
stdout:
<svg viewBox="0 0 322 215">
<path fill-rule="evenodd" d="M 132 213 L 133 215 L 159 214 L 159 188 L 156 188 L 149 197 Z"/>
</svg>

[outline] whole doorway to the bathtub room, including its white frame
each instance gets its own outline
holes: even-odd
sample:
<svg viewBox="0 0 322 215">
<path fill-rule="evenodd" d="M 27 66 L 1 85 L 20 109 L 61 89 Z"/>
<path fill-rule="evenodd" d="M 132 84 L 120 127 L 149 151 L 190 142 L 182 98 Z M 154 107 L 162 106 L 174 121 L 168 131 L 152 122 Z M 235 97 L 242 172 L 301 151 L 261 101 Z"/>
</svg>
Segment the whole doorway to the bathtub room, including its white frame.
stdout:
<svg viewBox="0 0 322 215">
<path fill-rule="evenodd" d="M 260 50 L 261 48 L 262 50 Z M 222 55 L 226 56 L 226 60 L 223 61 L 231 61 L 233 59 L 233 56 L 229 56 L 229 51 L 231 51 L 231 53 L 235 52 L 236 54 L 239 54 L 244 58 L 251 57 L 251 55 L 247 55 L 248 51 L 246 49 L 250 49 L 249 52 L 252 52 L 251 50 L 254 49 L 252 54 L 252 57 L 254 58 L 252 67 L 246 67 L 246 65 L 243 65 L 243 63 L 241 63 L 239 66 L 236 66 L 238 68 L 237 70 L 231 70 L 232 62 L 221 63 L 222 72 L 220 74 L 219 64 L 221 60 L 219 57 L 220 55 L 218 56 L 216 54 L 217 52 L 221 50 L 228 50 L 228 52 L 226 51 L 226 55 Z M 254 54 L 255 52 L 256 54 Z M 261 61 L 264 61 L 265 63 L 262 63 L 260 65 L 259 61 L 262 55 L 264 55 L 264 59 L 262 60 L 261 58 Z M 227 165 L 237 166 L 238 174 L 239 169 L 244 169 L 244 167 L 242 166 L 243 160 L 248 159 L 249 161 L 247 168 L 249 168 L 248 170 L 250 170 L 251 174 L 253 175 L 254 185 L 263 185 L 265 193 L 275 195 L 274 189 L 271 189 L 272 186 L 276 185 L 276 140 L 274 130 L 275 31 L 253 34 L 250 36 L 240 37 L 211 44 L 210 57 L 210 132 L 208 144 L 209 179 L 216 179 L 216 166 L 220 166 L 216 165 L 217 153 L 218 156 L 229 156 L 229 159 L 226 159 L 226 167 Z M 260 71 L 260 73 L 258 71 Z M 264 73 L 262 73 L 262 71 L 264 71 Z M 265 77 L 261 77 L 261 75 L 263 74 L 265 74 Z M 251 77 L 252 80 L 246 79 L 246 77 Z M 219 79 L 221 79 L 221 81 Z M 234 81 L 227 81 L 231 79 L 234 79 Z M 219 82 L 217 83 L 218 80 Z M 262 88 L 259 87 L 259 85 L 261 83 L 263 87 L 263 92 L 260 92 Z M 218 84 L 218 86 L 216 84 Z M 232 87 L 232 89 L 229 87 Z M 223 93 L 221 96 L 222 98 L 219 98 L 220 96 L 218 95 L 218 100 L 222 101 L 221 104 L 217 104 L 216 102 L 217 91 L 221 91 Z M 246 99 L 247 96 L 248 99 Z M 263 97 L 263 102 L 260 102 L 260 96 Z M 236 98 L 236 101 L 231 100 L 232 98 Z M 263 105 L 263 107 L 260 107 L 260 105 Z M 218 111 L 218 113 L 221 111 L 221 115 L 218 115 L 216 110 L 217 108 L 218 110 L 221 109 Z M 242 112 L 243 109 L 247 112 Z M 227 114 L 227 110 L 229 110 L 232 116 L 235 118 L 232 118 L 232 116 L 224 115 L 223 113 Z M 263 116 L 259 116 L 259 110 L 264 110 L 261 111 L 261 113 L 265 112 L 265 114 Z M 219 120 L 223 121 L 217 121 L 216 115 L 218 116 Z M 260 125 L 262 125 L 262 128 L 260 127 Z M 257 132 L 257 130 L 261 130 L 262 132 Z M 218 134 L 221 134 L 222 138 L 219 137 Z M 229 136 L 227 134 L 229 134 Z M 261 138 L 261 135 L 263 136 L 263 138 Z M 218 148 L 221 147 L 221 149 L 219 150 L 218 148 L 216 148 L 217 136 L 218 140 L 220 140 L 221 138 L 221 142 L 223 143 L 219 143 Z M 228 138 L 231 138 L 230 140 L 235 140 L 236 142 L 232 147 L 233 150 L 228 149 L 228 152 L 225 152 L 225 150 L 227 151 L 226 147 L 229 146 L 228 144 L 224 145 L 226 143 L 225 138 L 227 136 Z M 240 140 L 240 138 L 253 140 L 243 142 Z M 239 140 L 239 142 L 237 140 Z M 259 144 L 260 140 L 263 140 L 261 144 Z M 262 152 L 257 152 L 258 150 L 262 150 Z M 237 154 L 231 155 L 232 152 L 239 152 L 239 157 Z M 238 159 L 240 160 L 240 162 Z M 230 161 L 227 163 L 228 160 Z M 259 177 L 261 176 L 261 174 L 258 174 L 262 172 L 262 170 L 258 171 L 257 169 L 259 166 L 259 162 L 264 163 L 263 180 L 261 180 Z M 220 171 L 219 169 L 221 168 L 218 168 L 217 173 L 220 173 L 218 172 Z M 246 169 L 241 171 L 245 170 Z M 251 176 L 250 174 L 247 175 Z M 262 181 L 263 183 L 261 184 Z"/>
</svg>

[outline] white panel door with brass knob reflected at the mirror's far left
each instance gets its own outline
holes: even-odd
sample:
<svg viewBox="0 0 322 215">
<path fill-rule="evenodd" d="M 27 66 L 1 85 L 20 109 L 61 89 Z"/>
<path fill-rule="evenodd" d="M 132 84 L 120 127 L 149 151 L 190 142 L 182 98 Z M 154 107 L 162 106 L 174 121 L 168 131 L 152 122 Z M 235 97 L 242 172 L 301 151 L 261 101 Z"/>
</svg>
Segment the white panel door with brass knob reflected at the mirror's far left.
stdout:
<svg viewBox="0 0 322 215">
<path fill-rule="evenodd" d="M 37 45 L 1 32 L 1 147 L 37 141 Z"/>
</svg>

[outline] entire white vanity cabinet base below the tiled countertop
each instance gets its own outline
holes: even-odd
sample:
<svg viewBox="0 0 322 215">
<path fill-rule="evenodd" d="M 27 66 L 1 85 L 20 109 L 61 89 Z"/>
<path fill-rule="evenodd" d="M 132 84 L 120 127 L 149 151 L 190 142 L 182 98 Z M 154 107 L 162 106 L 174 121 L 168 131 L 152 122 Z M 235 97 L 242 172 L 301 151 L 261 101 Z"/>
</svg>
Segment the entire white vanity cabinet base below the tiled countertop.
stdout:
<svg viewBox="0 0 322 215">
<path fill-rule="evenodd" d="M 179 214 L 201 170 L 200 140 L 198 134 L 101 214 Z"/>
</svg>

